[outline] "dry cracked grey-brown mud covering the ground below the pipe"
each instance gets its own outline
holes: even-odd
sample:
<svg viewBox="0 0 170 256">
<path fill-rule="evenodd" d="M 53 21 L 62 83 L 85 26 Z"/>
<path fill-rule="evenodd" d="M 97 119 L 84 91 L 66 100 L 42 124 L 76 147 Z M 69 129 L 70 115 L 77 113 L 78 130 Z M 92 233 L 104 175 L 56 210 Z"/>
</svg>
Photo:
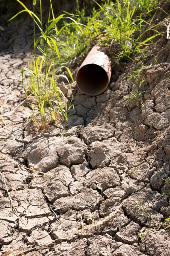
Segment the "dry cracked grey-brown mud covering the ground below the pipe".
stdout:
<svg viewBox="0 0 170 256">
<path fill-rule="evenodd" d="M 168 6 L 165 2 L 162 8 Z M 42 134 L 30 130 L 30 108 L 23 102 L 20 70 L 31 56 L 30 36 L 18 32 L 8 48 L 11 27 L 4 28 L 0 255 L 11 250 L 26 256 L 170 255 L 170 222 L 164 223 L 170 217 L 166 33 L 154 43 L 156 50 L 149 49 L 143 58 L 141 98 L 125 104 L 123 95 L 134 88 L 128 73 L 138 63 L 121 63 L 122 70 L 113 67 L 111 83 L 101 95 L 89 97 L 74 87 L 76 113 L 67 124 L 51 126 Z M 162 56 L 156 64 L 153 55 Z"/>
</svg>

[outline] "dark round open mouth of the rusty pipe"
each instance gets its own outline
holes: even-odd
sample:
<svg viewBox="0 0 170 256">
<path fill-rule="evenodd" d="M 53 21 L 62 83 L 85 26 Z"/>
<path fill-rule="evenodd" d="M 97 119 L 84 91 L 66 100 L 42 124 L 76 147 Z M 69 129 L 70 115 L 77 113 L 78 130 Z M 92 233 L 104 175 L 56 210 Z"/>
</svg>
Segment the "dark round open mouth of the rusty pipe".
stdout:
<svg viewBox="0 0 170 256">
<path fill-rule="evenodd" d="M 88 64 L 80 68 L 76 80 L 83 93 L 93 96 L 104 92 L 108 86 L 107 73 L 96 64 Z"/>
</svg>

